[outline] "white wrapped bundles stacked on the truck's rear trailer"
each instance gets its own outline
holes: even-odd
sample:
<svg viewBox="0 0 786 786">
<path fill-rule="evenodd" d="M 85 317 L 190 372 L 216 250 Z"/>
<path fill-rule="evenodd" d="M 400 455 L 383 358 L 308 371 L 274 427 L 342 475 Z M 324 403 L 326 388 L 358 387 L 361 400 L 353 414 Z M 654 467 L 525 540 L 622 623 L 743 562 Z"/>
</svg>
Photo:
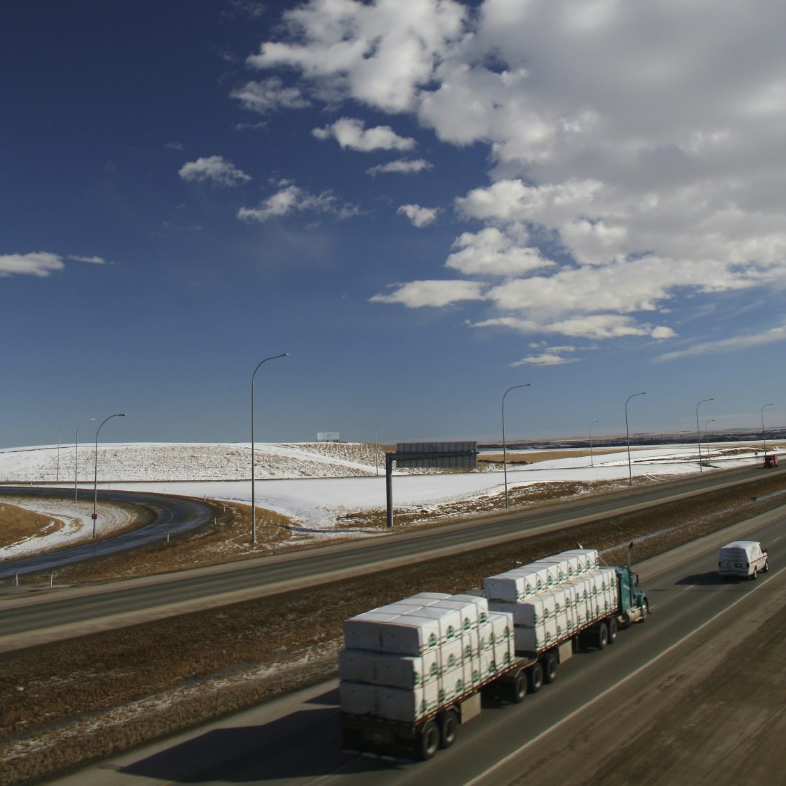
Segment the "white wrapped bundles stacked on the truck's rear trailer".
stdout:
<svg viewBox="0 0 786 786">
<path fill-rule="evenodd" d="M 341 709 L 415 722 L 514 655 L 510 615 L 476 595 L 421 593 L 344 623 Z"/>
</svg>

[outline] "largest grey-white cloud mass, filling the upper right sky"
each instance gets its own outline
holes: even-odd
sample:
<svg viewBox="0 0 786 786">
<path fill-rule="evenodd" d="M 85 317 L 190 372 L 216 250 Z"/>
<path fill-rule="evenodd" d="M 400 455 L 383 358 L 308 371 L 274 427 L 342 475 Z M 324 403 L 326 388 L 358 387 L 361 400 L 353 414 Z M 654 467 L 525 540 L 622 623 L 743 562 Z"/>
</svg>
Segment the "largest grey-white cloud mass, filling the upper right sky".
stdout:
<svg viewBox="0 0 786 786">
<path fill-rule="evenodd" d="M 786 288 L 786 50 L 771 35 L 782 3 L 716 10 L 311 0 L 248 64 L 285 69 L 332 108 L 413 117 L 438 141 L 486 147 L 487 180 L 454 200 L 469 226 L 439 260 L 451 277 L 435 270 L 375 302 L 477 301 L 476 328 L 587 341 L 669 341 L 679 325 L 690 343 L 692 314 L 719 296 L 777 303 Z"/>
</svg>

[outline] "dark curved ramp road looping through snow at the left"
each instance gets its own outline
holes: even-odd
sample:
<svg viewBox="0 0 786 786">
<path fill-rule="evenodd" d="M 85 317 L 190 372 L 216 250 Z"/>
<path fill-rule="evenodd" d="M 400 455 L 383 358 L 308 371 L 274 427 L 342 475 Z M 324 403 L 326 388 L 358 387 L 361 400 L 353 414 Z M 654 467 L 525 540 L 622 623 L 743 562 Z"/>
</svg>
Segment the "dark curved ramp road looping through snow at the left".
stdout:
<svg viewBox="0 0 786 786">
<path fill-rule="evenodd" d="M 18 497 L 68 497 L 68 490 L 56 488 L 31 488 L 20 486 L 0 486 L 0 495 Z M 93 492 L 79 494 L 82 498 L 93 499 Z M 97 556 L 129 549 L 137 549 L 141 545 L 160 542 L 167 534 L 181 534 L 202 527 L 213 520 L 215 513 L 201 502 L 178 497 L 167 497 L 162 494 L 146 494 L 139 491 L 99 491 L 98 498 L 106 502 L 123 502 L 130 505 L 141 505 L 152 511 L 154 519 L 138 530 L 114 535 L 112 538 L 101 538 L 83 545 L 72 546 L 46 554 L 22 557 L 18 560 L 0 562 L 0 578 L 8 578 L 14 574 L 23 575 L 37 571 L 54 570 L 63 565 L 85 562 Z M 99 509 L 100 510 L 100 509 Z M 100 522 L 100 518 L 99 518 Z"/>
</svg>

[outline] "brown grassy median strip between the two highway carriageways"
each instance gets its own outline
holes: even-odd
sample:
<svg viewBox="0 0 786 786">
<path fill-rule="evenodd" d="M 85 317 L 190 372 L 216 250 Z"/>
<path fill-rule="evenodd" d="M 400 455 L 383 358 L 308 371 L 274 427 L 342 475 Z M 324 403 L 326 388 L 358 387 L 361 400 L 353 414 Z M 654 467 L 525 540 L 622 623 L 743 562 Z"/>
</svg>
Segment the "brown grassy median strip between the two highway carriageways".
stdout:
<svg viewBox="0 0 786 786">
<path fill-rule="evenodd" d="M 347 617 L 421 590 L 456 593 L 581 542 L 637 560 L 784 502 L 786 473 L 560 534 L 0 656 L 0 784 L 105 758 L 335 674 Z"/>
</svg>

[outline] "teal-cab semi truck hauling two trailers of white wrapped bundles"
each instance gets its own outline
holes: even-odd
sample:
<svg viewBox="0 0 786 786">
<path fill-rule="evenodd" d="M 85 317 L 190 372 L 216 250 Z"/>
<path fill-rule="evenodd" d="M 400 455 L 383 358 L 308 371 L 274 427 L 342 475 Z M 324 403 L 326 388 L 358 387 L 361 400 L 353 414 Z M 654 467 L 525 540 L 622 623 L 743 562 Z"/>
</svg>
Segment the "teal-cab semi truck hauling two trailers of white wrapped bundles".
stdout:
<svg viewBox="0 0 786 786">
<path fill-rule="evenodd" d="M 482 589 L 418 593 L 344 622 L 339 655 L 343 751 L 432 758 L 481 713 L 556 680 L 583 648 L 602 650 L 644 622 L 630 568 L 573 549 L 490 576 Z"/>
</svg>

